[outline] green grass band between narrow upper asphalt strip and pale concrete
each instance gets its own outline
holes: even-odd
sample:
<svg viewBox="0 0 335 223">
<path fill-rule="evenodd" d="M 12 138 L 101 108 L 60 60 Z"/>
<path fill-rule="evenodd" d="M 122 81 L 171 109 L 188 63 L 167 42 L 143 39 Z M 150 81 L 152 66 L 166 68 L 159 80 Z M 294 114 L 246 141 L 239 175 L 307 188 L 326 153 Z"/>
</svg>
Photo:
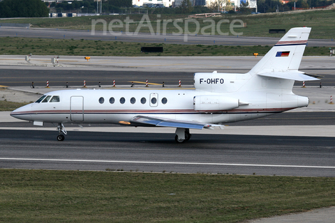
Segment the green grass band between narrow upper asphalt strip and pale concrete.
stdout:
<svg viewBox="0 0 335 223">
<path fill-rule="evenodd" d="M 1 54 L 65 56 L 252 56 L 265 55 L 271 46 L 177 45 L 101 40 L 0 38 Z M 334 42 L 335 45 L 335 42 Z M 141 53 L 141 47 L 163 47 L 163 53 Z M 328 47 L 306 47 L 305 56 L 328 55 Z"/>
</svg>

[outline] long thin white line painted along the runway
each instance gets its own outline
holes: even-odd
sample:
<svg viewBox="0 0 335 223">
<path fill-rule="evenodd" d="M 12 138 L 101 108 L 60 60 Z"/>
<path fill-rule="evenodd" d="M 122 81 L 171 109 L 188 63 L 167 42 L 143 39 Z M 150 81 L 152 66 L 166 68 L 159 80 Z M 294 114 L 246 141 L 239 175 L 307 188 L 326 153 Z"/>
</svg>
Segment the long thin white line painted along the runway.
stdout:
<svg viewBox="0 0 335 223">
<path fill-rule="evenodd" d="M 323 168 L 335 169 L 335 167 L 322 166 L 299 166 L 299 165 L 279 165 L 279 164 L 241 164 L 241 163 L 217 163 L 217 162 L 158 162 L 158 161 L 131 161 L 131 160 L 68 160 L 68 159 L 32 159 L 32 158 L 4 158 L 0 160 L 17 161 L 50 161 L 50 162 L 107 162 L 107 163 L 133 163 L 133 164 L 181 164 L 181 165 L 216 165 L 216 166 L 237 166 L 237 167 L 289 167 L 289 168 Z"/>
</svg>

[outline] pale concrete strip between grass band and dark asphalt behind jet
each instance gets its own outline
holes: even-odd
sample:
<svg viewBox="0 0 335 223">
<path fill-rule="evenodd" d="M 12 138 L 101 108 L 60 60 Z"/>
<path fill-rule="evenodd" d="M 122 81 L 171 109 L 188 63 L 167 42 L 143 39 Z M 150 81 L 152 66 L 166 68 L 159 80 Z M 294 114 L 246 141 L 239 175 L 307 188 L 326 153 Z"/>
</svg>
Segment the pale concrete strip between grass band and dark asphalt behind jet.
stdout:
<svg viewBox="0 0 335 223">
<path fill-rule="evenodd" d="M 262 56 L 60 56 L 58 63 L 51 63 L 57 55 L 31 56 L 30 62 L 25 55 L 0 55 L 1 66 L 18 66 L 22 69 L 75 69 L 75 70 L 145 70 L 175 72 L 213 72 L 214 70 L 250 70 Z M 304 56 L 299 70 L 335 69 L 335 56 Z M 232 71 L 233 72 L 233 71 Z M 334 74 L 334 73 L 333 73 Z"/>
</svg>

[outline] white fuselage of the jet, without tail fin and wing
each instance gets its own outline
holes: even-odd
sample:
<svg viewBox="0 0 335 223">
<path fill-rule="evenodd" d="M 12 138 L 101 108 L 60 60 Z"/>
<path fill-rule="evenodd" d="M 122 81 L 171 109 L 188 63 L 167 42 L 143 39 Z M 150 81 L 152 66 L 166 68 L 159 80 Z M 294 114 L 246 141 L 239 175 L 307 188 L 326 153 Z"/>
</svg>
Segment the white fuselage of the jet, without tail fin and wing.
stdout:
<svg viewBox="0 0 335 223">
<path fill-rule="evenodd" d="M 223 74 L 218 75 L 222 77 Z M 228 74 L 223 76 L 225 75 Z M 258 78 L 262 79 L 262 77 Z M 308 98 L 306 97 L 294 95 L 291 90 L 283 91 L 283 89 L 272 88 L 271 85 L 274 83 L 271 82 L 285 82 L 285 80 L 267 79 L 263 82 L 263 86 L 257 86 L 249 91 L 233 92 L 219 92 L 218 87 L 232 91 L 232 88 L 237 85 L 239 89 L 243 87 L 243 82 L 247 80 L 234 79 L 234 81 L 231 81 L 225 79 L 224 84 L 219 81 L 208 83 L 204 85 L 204 89 L 195 84 L 198 89 L 77 89 L 52 91 L 45 94 L 51 96 L 49 101 L 31 103 L 16 109 L 11 115 L 15 118 L 35 121 L 36 123 L 124 124 L 131 123 L 134 116 L 141 115 L 220 124 L 260 118 L 308 105 Z M 207 91 L 206 88 L 209 86 L 212 91 Z M 55 95 L 59 96 L 59 102 L 52 102 L 51 98 Z M 233 101 L 226 107 L 225 102 L 228 103 L 231 100 Z"/>
</svg>

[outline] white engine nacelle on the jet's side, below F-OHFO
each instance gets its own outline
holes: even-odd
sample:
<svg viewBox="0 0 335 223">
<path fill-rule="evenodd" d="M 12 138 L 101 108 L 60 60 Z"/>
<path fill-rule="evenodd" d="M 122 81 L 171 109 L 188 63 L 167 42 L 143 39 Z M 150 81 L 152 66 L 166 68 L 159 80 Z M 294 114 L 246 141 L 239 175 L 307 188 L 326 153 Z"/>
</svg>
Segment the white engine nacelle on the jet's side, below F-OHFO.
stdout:
<svg viewBox="0 0 335 223">
<path fill-rule="evenodd" d="M 193 98 L 193 109 L 199 112 L 218 112 L 239 107 L 239 99 L 221 95 L 198 95 Z"/>
</svg>

